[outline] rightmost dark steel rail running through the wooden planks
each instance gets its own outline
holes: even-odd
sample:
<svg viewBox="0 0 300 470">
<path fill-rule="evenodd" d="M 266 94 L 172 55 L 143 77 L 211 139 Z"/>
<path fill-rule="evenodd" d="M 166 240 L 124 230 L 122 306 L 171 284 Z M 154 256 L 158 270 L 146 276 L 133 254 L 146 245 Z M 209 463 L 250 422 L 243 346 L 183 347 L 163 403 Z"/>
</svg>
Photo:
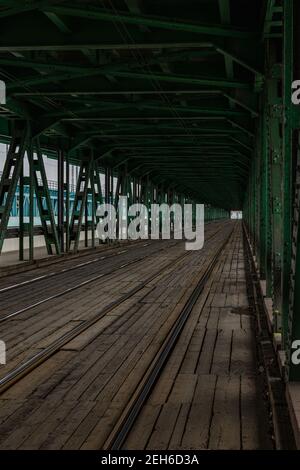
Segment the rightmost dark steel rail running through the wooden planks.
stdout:
<svg viewBox="0 0 300 470">
<path fill-rule="evenodd" d="M 190 316 L 190 313 L 192 312 L 200 294 L 203 292 L 206 282 L 217 264 L 220 253 L 224 250 L 225 246 L 231 239 L 233 231 L 234 229 L 231 230 L 224 243 L 222 243 L 220 248 L 214 254 L 211 262 L 209 263 L 209 266 L 194 288 L 191 296 L 184 305 L 181 313 L 179 314 L 179 317 L 175 321 L 172 329 L 168 333 L 164 343 L 156 355 L 156 358 L 153 360 L 152 367 L 142 378 L 136 389 L 136 392 L 133 394 L 131 401 L 125 408 L 121 418 L 106 440 L 103 447 L 104 450 L 120 450 L 122 448 L 122 445 L 128 437 L 137 417 L 139 416 L 145 401 L 149 397 L 155 383 L 157 382 L 157 379 L 162 373 L 164 366 L 180 337 L 183 327 L 185 326 Z"/>
</svg>

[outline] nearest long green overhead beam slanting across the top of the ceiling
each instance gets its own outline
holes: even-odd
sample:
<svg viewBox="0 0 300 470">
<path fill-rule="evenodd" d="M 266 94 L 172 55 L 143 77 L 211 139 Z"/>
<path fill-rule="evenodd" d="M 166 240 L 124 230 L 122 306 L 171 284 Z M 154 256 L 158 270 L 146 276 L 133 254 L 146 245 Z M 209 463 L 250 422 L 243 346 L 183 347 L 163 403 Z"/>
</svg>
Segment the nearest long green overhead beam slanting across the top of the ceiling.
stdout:
<svg viewBox="0 0 300 470">
<path fill-rule="evenodd" d="M 225 27 L 213 24 L 197 24 L 188 22 L 172 21 L 167 18 L 154 17 L 154 16 L 142 16 L 142 15 L 130 15 L 121 13 L 120 11 L 102 10 L 100 8 L 93 8 L 86 6 L 83 8 L 76 8 L 74 5 L 70 6 L 51 6 L 45 9 L 56 13 L 57 15 L 75 16 L 79 18 L 87 18 L 91 20 L 103 20 L 115 23 L 127 23 L 140 26 L 149 26 L 152 28 L 159 29 L 170 29 L 173 31 L 183 31 L 188 33 L 196 34 L 208 34 L 209 36 L 221 36 L 231 37 L 239 39 L 251 39 L 256 38 L 257 33 L 252 31 L 245 31 L 238 28 Z"/>
</svg>

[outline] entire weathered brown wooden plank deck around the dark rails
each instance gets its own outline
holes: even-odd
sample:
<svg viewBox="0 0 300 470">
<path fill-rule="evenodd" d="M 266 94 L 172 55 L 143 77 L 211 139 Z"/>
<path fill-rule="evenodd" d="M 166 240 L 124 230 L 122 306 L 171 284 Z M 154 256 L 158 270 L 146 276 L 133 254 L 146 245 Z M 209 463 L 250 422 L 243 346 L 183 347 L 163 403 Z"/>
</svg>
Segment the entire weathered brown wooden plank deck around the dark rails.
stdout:
<svg viewBox="0 0 300 470">
<path fill-rule="evenodd" d="M 9 322 L 8 368 L 161 270 L 0 396 L 0 448 L 101 449 L 229 225 L 218 232 L 215 226 L 205 248 L 177 264 L 183 247 L 153 253 L 114 279 L 50 304 L 47 314 L 35 309 Z M 271 447 L 250 313 L 241 231 L 236 230 L 126 448 Z"/>
</svg>

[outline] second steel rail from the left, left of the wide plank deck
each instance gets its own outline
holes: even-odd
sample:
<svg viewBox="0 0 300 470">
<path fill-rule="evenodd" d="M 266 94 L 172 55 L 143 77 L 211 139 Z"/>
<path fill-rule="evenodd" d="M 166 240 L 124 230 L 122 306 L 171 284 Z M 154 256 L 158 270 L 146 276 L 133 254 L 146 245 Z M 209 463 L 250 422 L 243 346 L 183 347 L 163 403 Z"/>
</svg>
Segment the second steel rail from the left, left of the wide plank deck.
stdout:
<svg viewBox="0 0 300 470">
<path fill-rule="evenodd" d="M 216 232 L 214 232 L 208 239 L 210 240 L 211 238 L 215 237 L 215 236 L 219 233 L 220 230 L 221 230 L 221 228 L 219 228 Z M 180 240 L 180 241 L 181 241 L 181 240 Z M 175 242 L 175 243 L 171 243 L 170 245 L 167 245 L 166 247 L 160 248 L 158 251 L 165 251 L 165 250 L 169 249 L 170 247 L 173 247 L 173 246 L 177 245 L 178 243 L 180 243 L 180 241 Z M 149 245 L 149 244 L 147 243 L 147 245 Z M 156 251 L 155 253 L 157 253 L 158 251 Z M 117 256 L 117 254 L 114 254 L 114 255 L 112 255 L 112 256 L 108 256 L 108 257 L 106 257 L 106 258 L 115 257 L 115 256 Z M 98 275 L 96 275 L 96 276 L 93 276 L 92 278 L 87 279 L 87 280 L 85 280 L 85 281 L 82 281 L 82 282 L 76 284 L 75 286 L 68 287 L 67 289 L 65 289 L 65 290 L 63 290 L 63 291 L 61 291 L 61 292 L 58 292 L 58 293 L 53 294 L 53 295 L 50 295 L 49 297 L 46 297 L 46 298 L 44 298 L 44 299 L 42 299 L 42 300 L 39 300 L 39 301 L 37 301 L 37 302 L 35 302 L 35 303 L 31 304 L 31 305 L 28 305 L 28 306 L 26 306 L 26 307 L 23 307 L 23 308 L 21 308 L 21 309 L 19 309 L 19 310 L 16 310 L 16 311 L 14 311 L 14 312 L 8 313 L 8 314 L 6 314 L 6 315 L 0 317 L 0 323 L 3 323 L 3 322 L 5 322 L 5 321 L 8 321 L 8 320 L 10 320 L 10 319 L 12 319 L 12 318 L 14 318 L 14 317 L 16 317 L 16 316 L 18 316 L 18 315 L 21 315 L 22 313 L 27 312 L 28 310 L 31 310 L 32 308 L 38 307 L 39 305 L 42 305 L 42 304 L 44 304 L 44 303 L 46 303 L 46 302 L 50 302 L 51 300 L 54 300 L 54 299 L 57 299 L 57 298 L 59 298 L 59 297 L 62 297 L 62 296 L 64 296 L 64 295 L 66 295 L 66 294 L 69 294 L 70 292 L 73 292 L 73 291 L 75 291 L 75 290 L 77 290 L 77 289 L 80 289 L 81 287 L 84 287 L 84 286 L 86 286 L 86 285 L 88 285 L 88 284 L 91 284 L 92 282 L 95 282 L 95 281 L 101 279 L 102 277 L 106 277 L 106 278 L 107 278 L 107 277 L 110 276 L 110 275 L 114 275 L 114 274 L 116 273 L 116 271 L 118 271 L 118 270 L 120 270 L 120 269 L 127 268 L 128 266 L 131 266 L 132 264 L 138 263 L 139 261 L 143 261 L 144 259 L 147 259 L 147 258 L 149 258 L 150 256 L 153 256 L 153 253 L 149 253 L 148 255 L 139 256 L 138 258 L 136 258 L 136 259 L 134 259 L 134 260 L 131 260 L 131 261 L 128 261 L 128 262 L 122 264 L 121 266 L 117 266 L 115 269 L 113 269 L 113 270 L 111 270 L 111 271 L 109 271 L 109 272 L 107 272 L 107 273 L 101 273 L 101 274 L 98 274 Z M 90 263 L 90 261 L 87 262 L 87 264 L 88 264 L 88 263 Z M 77 266 L 77 267 L 78 267 L 78 266 Z M 81 266 L 81 267 L 82 267 L 82 266 Z M 68 271 L 72 271 L 72 269 L 74 269 L 74 268 L 72 267 L 72 268 L 68 269 Z M 64 271 L 64 273 L 66 273 L 66 272 L 67 272 L 67 271 Z M 59 272 L 59 274 L 61 274 L 61 273 L 62 273 L 62 272 Z M 44 278 L 44 279 L 45 279 L 45 278 Z"/>
</svg>

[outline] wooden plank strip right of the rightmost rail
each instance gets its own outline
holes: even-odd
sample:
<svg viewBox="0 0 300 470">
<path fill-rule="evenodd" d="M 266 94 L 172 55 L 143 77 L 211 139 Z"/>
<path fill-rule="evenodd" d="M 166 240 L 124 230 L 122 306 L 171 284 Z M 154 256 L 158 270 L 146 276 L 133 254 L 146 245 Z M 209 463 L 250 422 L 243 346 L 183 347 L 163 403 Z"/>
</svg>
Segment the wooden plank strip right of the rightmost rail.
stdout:
<svg viewBox="0 0 300 470">
<path fill-rule="evenodd" d="M 222 253 L 125 449 L 271 449 L 241 230 Z"/>
</svg>

